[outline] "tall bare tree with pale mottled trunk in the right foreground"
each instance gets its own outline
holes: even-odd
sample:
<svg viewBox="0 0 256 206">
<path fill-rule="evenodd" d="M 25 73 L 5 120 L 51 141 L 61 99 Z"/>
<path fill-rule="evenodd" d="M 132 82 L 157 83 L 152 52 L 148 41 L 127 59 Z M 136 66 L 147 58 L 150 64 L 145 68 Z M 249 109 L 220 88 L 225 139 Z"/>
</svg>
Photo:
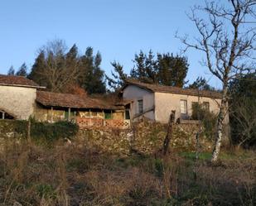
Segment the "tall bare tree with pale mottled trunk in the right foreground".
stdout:
<svg viewBox="0 0 256 206">
<path fill-rule="evenodd" d="M 205 7 L 195 6 L 189 15 L 199 36 L 177 36 L 185 50 L 193 48 L 205 54 L 202 64 L 222 83 L 222 99 L 217 120 L 215 146 L 211 161 L 218 160 L 228 113 L 229 81 L 248 71 L 255 64 L 256 0 L 205 1 Z M 203 16 L 200 16 L 203 14 Z"/>
</svg>

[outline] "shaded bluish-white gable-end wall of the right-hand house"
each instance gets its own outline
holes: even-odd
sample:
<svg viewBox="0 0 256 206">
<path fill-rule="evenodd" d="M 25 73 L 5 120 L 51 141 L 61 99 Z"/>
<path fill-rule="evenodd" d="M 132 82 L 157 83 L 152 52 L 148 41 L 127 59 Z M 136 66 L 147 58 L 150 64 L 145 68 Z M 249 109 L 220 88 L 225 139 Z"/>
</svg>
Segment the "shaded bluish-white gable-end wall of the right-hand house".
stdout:
<svg viewBox="0 0 256 206">
<path fill-rule="evenodd" d="M 133 103 L 131 104 L 131 118 L 138 113 L 137 102 L 139 99 L 143 99 L 144 110 L 154 106 L 154 93 L 133 85 L 128 85 L 123 89 L 123 99 L 133 100 Z M 155 120 L 154 112 L 145 113 L 144 117 Z"/>
</svg>

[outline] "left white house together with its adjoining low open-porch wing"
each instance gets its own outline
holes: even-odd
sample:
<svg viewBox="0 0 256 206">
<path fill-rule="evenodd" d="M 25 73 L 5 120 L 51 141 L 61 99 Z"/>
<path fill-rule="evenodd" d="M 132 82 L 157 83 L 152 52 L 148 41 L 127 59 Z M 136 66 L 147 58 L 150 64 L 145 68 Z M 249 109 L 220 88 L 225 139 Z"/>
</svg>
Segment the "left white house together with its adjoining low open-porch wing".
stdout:
<svg viewBox="0 0 256 206">
<path fill-rule="evenodd" d="M 71 93 L 51 93 L 22 76 L 0 75 L 0 119 L 74 121 L 80 127 L 129 127 L 126 104 Z"/>
</svg>

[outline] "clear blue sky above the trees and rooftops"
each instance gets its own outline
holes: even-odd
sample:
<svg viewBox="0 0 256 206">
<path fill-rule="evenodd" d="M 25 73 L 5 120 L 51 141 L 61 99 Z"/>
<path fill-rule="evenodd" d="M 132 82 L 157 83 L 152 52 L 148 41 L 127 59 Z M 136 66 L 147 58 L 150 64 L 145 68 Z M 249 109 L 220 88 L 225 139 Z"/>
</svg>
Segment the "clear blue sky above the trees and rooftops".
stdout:
<svg viewBox="0 0 256 206">
<path fill-rule="evenodd" d="M 175 32 L 196 35 L 186 12 L 204 0 L 1 0 L 0 1 L 0 73 L 23 62 L 29 68 L 36 50 L 53 39 L 74 43 L 85 52 L 87 46 L 99 50 L 102 69 L 109 74 L 110 62 L 117 60 L 125 71 L 133 67 L 139 50 L 180 52 Z M 210 84 L 220 82 L 203 68 L 202 54 L 186 54 L 190 63 L 187 80 L 203 75 Z"/>
</svg>

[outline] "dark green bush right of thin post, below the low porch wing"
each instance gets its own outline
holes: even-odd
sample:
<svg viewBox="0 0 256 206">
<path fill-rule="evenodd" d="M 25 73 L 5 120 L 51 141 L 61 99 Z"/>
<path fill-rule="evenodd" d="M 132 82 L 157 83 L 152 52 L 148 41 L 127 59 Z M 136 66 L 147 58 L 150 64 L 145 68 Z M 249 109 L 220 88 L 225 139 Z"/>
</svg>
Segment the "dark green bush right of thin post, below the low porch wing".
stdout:
<svg viewBox="0 0 256 206">
<path fill-rule="evenodd" d="M 79 128 L 72 122 L 31 122 L 31 137 L 54 141 L 74 137 Z"/>
</svg>

